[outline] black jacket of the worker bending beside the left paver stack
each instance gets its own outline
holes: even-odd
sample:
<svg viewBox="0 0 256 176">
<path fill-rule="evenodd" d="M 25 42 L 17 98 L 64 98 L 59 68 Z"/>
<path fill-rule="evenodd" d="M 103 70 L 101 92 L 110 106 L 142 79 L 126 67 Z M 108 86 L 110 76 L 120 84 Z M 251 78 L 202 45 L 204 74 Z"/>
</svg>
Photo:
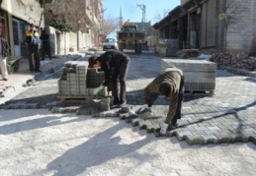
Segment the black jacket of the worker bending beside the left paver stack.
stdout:
<svg viewBox="0 0 256 176">
<path fill-rule="evenodd" d="M 107 87 L 112 79 L 112 70 L 120 67 L 122 62 L 128 61 L 128 55 L 124 54 L 121 51 L 107 51 L 97 58 L 101 63 L 101 69 L 105 73 L 105 81 L 103 86 Z"/>
</svg>

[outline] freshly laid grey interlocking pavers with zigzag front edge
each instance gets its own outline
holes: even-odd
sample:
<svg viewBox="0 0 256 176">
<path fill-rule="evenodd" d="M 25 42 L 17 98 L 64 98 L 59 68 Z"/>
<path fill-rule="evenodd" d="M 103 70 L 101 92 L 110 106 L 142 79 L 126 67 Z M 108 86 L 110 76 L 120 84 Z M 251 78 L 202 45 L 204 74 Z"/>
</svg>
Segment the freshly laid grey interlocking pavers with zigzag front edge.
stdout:
<svg viewBox="0 0 256 176">
<path fill-rule="evenodd" d="M 130 55 L 130 57 L 128 104 L 137 109 L 143 103 L 142 89 L 161 70 L 161 59 L 145 54 Z M 165 119 L 169 105 L 166 98 L 157 98 L 152 106 L 153 117 L 149 119 L 139 119 L 134 115 L 128 115 L 120 108 L 101 112 L 82 102 L 76 105 L 73 102 L 59 102 L 55 96 L 58 76 L 56 73 L 51 79 L 30 88 L 27 93 L 20 94 L 2 108 L 16 108 L 18 107 L 15 106 L 16 103 L 20 106 L 27 104 L 27 108 L 29 106 L 45 107 L 61 113 L 76 112 L 86 115 L 93 114 L 93 117 L 120 117 L 132 126 L 137 126 L 141 130 L 146 130 L 147 133 L 154 133 L 156 137 L 160 137 L 159 124 Z M 50 85 L 50 91 L 46 88 L 47 85 Z M 59 109 L 61 110 L 59 111 Z M 189 145 L 235 142 L 256 144 L 255 114 L 256 79 L 216 70 L 213 96 L 208 93 L 186 93 L 182 118 L 178 120 L 179 125 L 176 129 L 167 132 L 165 137 L 176 137 L 179 141 L 186 141 Z"/>
</svg>

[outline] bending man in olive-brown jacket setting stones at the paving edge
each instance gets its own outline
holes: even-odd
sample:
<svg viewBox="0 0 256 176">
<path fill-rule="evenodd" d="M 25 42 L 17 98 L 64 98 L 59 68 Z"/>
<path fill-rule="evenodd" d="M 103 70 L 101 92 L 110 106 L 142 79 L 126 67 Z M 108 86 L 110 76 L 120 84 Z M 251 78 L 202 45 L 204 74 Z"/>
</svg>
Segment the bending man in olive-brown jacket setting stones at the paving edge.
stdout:
<svg viewBox="0 0 256 176">
<path fill-rule="evenodd" d="M 177 119 L 181 118 L 181 107 L 184 94 L 183 72 L 175 67 L 165 69 L 143 90 L 144 105 L 137 113 L 150 112 L 150 107 L 158 97 L 164 95 L 170 99 L 169 111 L 163 124 L 160 124 L 160 133 L 177 127 Z"/>
</svg>

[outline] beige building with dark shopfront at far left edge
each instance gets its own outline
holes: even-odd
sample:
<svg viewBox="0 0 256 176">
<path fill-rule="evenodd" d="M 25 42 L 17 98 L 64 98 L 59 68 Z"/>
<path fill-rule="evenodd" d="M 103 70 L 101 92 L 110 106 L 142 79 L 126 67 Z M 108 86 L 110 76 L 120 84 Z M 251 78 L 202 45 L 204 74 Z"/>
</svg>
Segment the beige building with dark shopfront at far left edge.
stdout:
<svg viewBox="0 0 256 176">
<path fill-rule="evenodd" d="M 11 46 L 11 55 L 26 55 L 25 31 L 30 23 L 43 27 L 41 1 L 2 0 L 0 18 L 5 22 L 5 37 Z"/>
</svg>

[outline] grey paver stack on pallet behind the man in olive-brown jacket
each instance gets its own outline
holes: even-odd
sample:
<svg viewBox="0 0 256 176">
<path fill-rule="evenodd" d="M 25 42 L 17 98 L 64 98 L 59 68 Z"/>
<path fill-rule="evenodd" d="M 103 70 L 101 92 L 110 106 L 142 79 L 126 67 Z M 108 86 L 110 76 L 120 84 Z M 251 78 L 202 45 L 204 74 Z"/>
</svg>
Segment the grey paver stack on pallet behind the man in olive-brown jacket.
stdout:
<svg viewBox="0 0 256 176">
<path fill-rule="evenodd" d="M 162 59 L 161 62 L 162 69 L 175 66 L 183 71 L 186 91 L 205 91 L 213 94 L 215 88 L 215 63 L 189 59 Z"/>
</svg>

